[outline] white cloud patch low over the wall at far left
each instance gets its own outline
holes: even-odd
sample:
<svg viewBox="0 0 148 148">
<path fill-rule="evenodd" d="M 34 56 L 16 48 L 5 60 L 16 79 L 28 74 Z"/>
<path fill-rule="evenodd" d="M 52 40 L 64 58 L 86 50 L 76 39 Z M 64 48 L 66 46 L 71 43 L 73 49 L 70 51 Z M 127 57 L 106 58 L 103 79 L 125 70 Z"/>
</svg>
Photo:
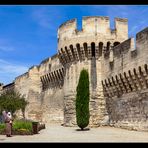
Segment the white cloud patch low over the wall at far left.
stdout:
<svg viewBox="0 0 148 148">
<path fill-rule="evenodd" d="M 0 83 L 11 83 L 15 77 L 20 74 L 27 72 L 28 67 L 7 62 L 3 59 L 0 59 Z"/>
</svg>

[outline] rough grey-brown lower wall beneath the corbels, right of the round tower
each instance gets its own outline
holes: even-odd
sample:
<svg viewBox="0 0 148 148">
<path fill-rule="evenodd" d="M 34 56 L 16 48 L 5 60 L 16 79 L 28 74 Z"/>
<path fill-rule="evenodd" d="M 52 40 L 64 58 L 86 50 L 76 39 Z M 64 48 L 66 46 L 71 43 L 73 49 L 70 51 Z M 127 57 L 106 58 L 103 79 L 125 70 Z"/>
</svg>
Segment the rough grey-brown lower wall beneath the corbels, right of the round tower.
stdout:
<svg viewBox="0 0 148 148">
<path fill-rule="evenodd" d="M 107 97 L 110 126 L 148 131 L 148 89 Z"/>
</svg>

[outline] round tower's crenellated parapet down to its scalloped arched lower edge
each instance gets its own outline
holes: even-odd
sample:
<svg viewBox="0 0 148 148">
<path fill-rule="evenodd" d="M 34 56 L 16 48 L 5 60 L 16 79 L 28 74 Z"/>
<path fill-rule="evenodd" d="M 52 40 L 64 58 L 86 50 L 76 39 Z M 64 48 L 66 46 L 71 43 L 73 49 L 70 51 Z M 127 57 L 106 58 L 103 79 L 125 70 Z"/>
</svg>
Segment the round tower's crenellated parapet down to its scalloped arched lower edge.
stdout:
<svg viewBox="0 0 148 148">
<path fill-rule="evenodd" d="M 83 46 L 84 43 L 100 42 L 107 46 L 107 42 L 123 42 L 128 39 L 128 21 L 125 18 L 115 18 L 114 29 L 110 28 L 109 17 L 91 16 L 82 18 L 82 30 L 77 29 L 77 19 L 63 23 L 58 29 L 58 50 L 65 51 L 70 45 Z"/>
</svg>

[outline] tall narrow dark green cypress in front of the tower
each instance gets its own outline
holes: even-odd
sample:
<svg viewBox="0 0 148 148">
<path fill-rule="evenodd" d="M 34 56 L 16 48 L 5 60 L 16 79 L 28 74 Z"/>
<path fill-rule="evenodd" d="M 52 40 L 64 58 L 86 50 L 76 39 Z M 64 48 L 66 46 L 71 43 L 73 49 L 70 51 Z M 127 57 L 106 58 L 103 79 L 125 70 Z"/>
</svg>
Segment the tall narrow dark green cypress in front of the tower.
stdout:
<svg viewBox="0 0 148 148">
<path fill-rule="evenodd" d="M 83 69 L 80 73 L 76 94 L 76 121 L 83 130 L 89 124 L 89 75 Z"/>
</svg>

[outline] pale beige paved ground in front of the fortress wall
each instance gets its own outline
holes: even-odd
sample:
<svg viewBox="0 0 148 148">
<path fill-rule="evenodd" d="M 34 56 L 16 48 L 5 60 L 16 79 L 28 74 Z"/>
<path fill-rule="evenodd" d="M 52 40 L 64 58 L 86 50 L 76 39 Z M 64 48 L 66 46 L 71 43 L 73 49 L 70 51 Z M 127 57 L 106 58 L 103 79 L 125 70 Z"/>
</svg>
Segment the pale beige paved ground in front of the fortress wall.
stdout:
<svg viewBox="0 0 148 148">
<path fill-rule="evenodd" d="M 148 132 L 129 131 L 113 127 L 91 128 L 78 131 L 77 127 L 46 125 L 46 129 L 31 136 L 6 137 L 0 142 L 148 142 Z"/>
</svg>

